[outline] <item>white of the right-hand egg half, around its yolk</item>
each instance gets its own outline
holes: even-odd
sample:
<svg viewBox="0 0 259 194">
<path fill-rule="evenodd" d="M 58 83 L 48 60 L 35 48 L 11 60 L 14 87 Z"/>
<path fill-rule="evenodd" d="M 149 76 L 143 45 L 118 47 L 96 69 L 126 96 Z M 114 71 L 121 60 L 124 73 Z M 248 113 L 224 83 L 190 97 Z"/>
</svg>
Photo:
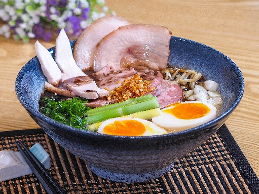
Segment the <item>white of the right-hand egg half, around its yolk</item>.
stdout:
<svg viewBox="0 0 259 194">
<path fill-rule="evenodd" d="M 207 102 L 186 101 L 181 103 L 202 103 L 207 107 L 209 107 L 210 111 L 206 115 L 204 115 L 204 117 L 186 120 L 186 119 L 178 119 L 173 114 L 163 111 L 174 107 L 174 106 L 169 106 L 161 109 L 162 111 L 161 116 L 152 118 L 152 122 L 166 129 L 168 132 L 176 132 L 176 131 L 182 131 L 186 129 L 191 129 L 193 127 L 197 127 L 199 125 L 207 123 L 213 120 L 214 118 L 216 118 L 216 108 Z"/>
</svg>

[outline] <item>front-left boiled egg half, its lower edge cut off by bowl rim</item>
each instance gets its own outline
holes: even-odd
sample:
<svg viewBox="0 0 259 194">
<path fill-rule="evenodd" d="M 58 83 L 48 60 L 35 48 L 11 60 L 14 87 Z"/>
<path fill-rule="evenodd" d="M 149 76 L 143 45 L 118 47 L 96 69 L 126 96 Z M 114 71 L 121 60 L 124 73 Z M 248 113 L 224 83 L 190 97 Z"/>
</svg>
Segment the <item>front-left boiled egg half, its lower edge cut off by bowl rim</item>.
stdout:
<svg viewBox="0 0 259 194">
<path fill-rule="evenodd" d="M 147 136 L 167 134 L 165 129 L 156 124 L 137 118 L 108 119 L 100 125 L 98 133 L 122 136 Z"/>
</svg>

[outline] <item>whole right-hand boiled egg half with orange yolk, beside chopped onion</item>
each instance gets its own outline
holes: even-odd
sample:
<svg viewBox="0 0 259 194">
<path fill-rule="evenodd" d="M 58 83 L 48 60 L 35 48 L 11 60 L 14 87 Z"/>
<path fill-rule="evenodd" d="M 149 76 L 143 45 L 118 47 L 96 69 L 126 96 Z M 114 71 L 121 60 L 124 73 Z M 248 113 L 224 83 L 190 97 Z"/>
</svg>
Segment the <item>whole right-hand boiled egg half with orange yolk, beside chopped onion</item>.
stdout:
<svg viewBox="0 0 259 194">
<path fill-rule="evenodd" d="M 168 132 L 182 131 L 197 127 L 216 118 L 216 108 L 201 101 L 186 101 L 161 109 L 159 117 L 152 122 Z"/>
</svg>

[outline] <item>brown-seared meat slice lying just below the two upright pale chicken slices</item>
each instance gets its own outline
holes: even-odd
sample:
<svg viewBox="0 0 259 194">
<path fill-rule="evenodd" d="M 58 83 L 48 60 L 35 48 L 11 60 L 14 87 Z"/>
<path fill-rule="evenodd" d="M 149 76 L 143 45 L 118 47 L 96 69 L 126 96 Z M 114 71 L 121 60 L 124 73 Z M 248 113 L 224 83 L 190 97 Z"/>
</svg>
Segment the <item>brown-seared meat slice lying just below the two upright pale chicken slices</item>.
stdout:
<svg viewBox="0 0 259 194">
<path fill-rule="evenodd" d="M 77 76 L 62 82 L 63 87 L 76 95 L 86 99 L 96 99 L 109 94 L 107 90 L 100 89 L 89 76 Z"/>
</svg>

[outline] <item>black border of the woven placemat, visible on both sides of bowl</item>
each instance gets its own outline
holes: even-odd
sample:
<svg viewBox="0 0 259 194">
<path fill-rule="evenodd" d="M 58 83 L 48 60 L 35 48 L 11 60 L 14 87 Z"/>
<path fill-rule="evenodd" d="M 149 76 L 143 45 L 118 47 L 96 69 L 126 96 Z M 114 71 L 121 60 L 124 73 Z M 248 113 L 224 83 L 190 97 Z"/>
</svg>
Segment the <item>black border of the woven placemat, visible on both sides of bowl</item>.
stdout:
<svg viewBox="0 0 259 194">
<path fill-rule="evenodd" d="M 15 135 L 32 135 L 32 134 L 42 134 L 45 133 L 42 129 L 25 129 L 25 130 L 15 130 L 15 131 L 4 131 L 0 132 L 1 137 L 10 137 Z M 235 159 L 237 168 L 239 169 L 241 175 L 244 177 L 245 181 L 251 188 L 253 193 L 259 193 L 259 178 L 256 176 L 251 165 L 247 161 L 244 153 L 241 151 L 234 137 L 231 135 L 229 129 L 224 124 L 218 130 L 219 135 L 223 138 L 227 148 L 229 149 L 232 157 Z"/>
</svg>

